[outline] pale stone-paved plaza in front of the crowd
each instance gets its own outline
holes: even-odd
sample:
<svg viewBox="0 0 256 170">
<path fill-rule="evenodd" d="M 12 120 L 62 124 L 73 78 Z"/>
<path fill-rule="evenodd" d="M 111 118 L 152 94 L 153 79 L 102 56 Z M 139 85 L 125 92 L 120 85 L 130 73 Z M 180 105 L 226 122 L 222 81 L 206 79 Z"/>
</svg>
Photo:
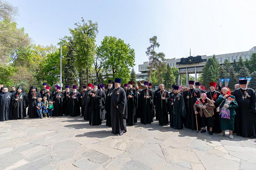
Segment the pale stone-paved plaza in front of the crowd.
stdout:
<svg viewBox="0 0 256 170">
<path fill-rule="evenodd" d="M 0 122 L 0 169 L 18 170 L 246 170 L 256 169 L 256 140 L 234 139 L 153 124 L 111 128 L 82 117 Z"/>
</svg>

